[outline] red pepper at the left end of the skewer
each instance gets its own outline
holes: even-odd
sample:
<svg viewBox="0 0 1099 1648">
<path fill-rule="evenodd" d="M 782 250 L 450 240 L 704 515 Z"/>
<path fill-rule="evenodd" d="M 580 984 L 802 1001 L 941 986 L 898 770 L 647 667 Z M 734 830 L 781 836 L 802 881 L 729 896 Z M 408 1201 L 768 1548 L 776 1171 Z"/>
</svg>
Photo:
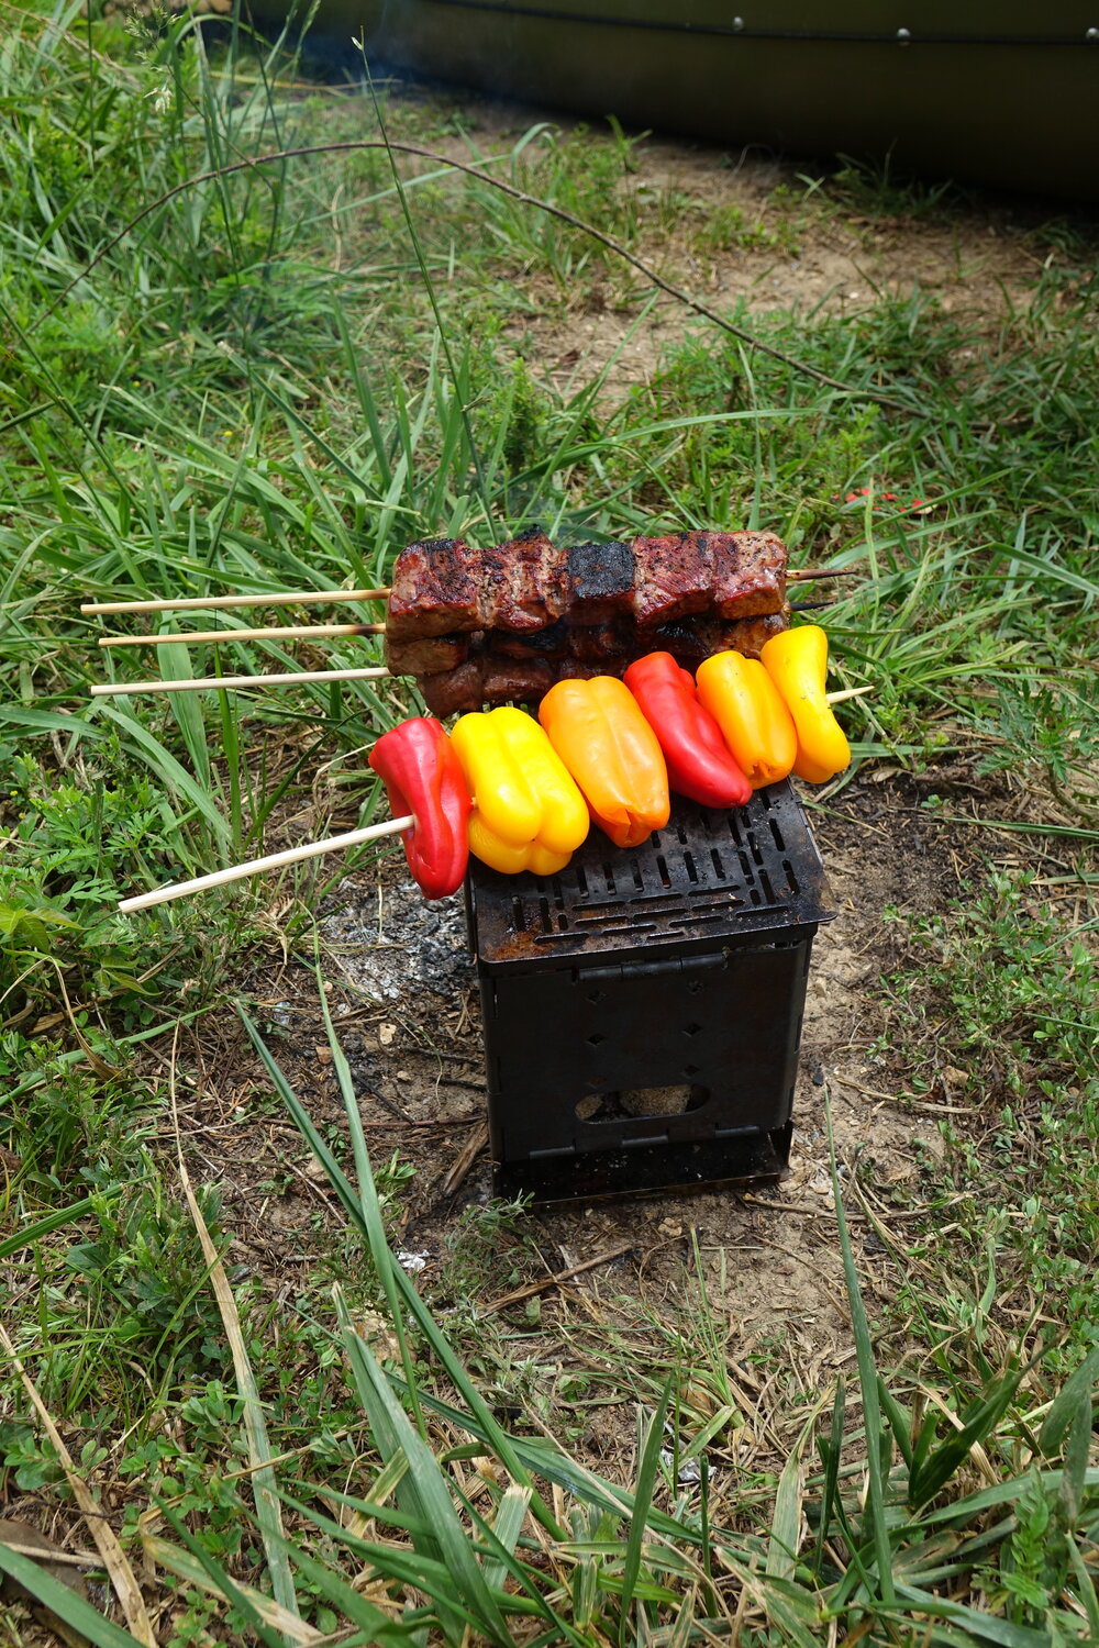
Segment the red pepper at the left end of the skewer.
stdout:
<svg viewBox="0 0 1099 1648">
<path fill-rule="evenodd" d="M 412 814 L 400 832 L 412 877 L 425 898 L 447 898 L 461 887 L 470 862 L 470 791 L 440 722 L 414 715 L 382 733 L 371 766 L 386 784 L 392 816 Z"/>
</svg>

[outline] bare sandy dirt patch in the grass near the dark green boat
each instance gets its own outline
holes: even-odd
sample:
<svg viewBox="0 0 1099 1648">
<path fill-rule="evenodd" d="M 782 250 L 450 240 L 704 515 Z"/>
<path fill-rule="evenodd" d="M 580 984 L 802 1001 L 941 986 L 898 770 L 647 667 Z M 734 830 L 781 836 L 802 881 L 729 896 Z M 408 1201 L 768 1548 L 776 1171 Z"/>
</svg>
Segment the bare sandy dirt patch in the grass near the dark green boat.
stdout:
<svg viewBox="0 0 1099 1648">
<path fill-rule="evenodd" d="M 432 147 L 465 162 L 506 152 L 540 122 L 564 132 L 575 129 L 575 122 L 545 109 L 476 97 L 461 102 L 461 122 L 468 140 L 453 137 Z M 797 201 L 821 175 L 812 162 L 644 138 L 633 148 L 633 165 L 624 186 L 641 206 L 662 203 L 659 242 L 638 250 L 692 297 L 722 310 L 743 302 L 748 313 L 852 315 L 886 293 L 918 288 L 934 293 L 959 318 L 994 326 L 1030 303 L 1035 277 L 1058 255 L 1033 237 L 1050 218 L 1050 208 L 1033 201 L 974 194 L 969 209 L 952 199 L 949 213 L 929 209 L 921 218 L 865 214 L 847 206 L 822 211 L 819 203 L 802 211 Z M 700 226 L 730 208 L 743 214 L 745 231 L 765 231 L 761 239 L 778 231 L 778 246 L 700 250 Z M 1056 213 L 1064 214 L 1064 208 Z M 634 295 L 649 297 L 644 279 L 626 265 L 623 280 Z M 534 341 L 540 372 L 562 392 L 578 389 L 611 359 L 616 394 L 608 399 L 646 382 L 664 349 L 680 341 L 692 321 L 680 303 L 656 288 L 643 326 L 636 302 L 623 303 L 611 280 L 585 290 L 582 307 L 565 318 L 539 313 L 539 298 L 549 290 L 540 293 L 537 282 L 524 282 L 524 290 L 531 310 L 517 313 L 507 330 Z"/>
</svg>

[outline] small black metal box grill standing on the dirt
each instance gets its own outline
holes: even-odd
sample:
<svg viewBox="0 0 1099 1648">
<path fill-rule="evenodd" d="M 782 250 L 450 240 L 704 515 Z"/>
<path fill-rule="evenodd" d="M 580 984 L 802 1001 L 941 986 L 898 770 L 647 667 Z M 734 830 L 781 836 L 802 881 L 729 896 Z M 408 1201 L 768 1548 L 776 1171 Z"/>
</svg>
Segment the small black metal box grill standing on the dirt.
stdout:
<svg viewBox="0 0 1099 1648">
<path fill-rule="evenodd" d="M 788 781 L 559 875 L 471 860 L 498 1195 L 778 1177 L 827 883 Z"/>
</svg>

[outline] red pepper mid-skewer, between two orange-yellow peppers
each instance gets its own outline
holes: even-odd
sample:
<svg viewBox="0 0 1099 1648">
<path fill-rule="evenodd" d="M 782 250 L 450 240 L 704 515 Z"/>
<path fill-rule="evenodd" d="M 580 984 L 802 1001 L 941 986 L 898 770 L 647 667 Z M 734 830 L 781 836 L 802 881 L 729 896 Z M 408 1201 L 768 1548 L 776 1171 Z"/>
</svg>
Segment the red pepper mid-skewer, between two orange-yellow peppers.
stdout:
<svg viewBox="0 0 1099 1648">
<path fill-rule="evenodd" d="M 629 666 L 623 681 L 659 738 L 672 789 L 704 808 L 743 808 L 751 784 L 722 728 L 699 702 L 689 671 L 671 653 L 648 653 Z"/>
</svg>

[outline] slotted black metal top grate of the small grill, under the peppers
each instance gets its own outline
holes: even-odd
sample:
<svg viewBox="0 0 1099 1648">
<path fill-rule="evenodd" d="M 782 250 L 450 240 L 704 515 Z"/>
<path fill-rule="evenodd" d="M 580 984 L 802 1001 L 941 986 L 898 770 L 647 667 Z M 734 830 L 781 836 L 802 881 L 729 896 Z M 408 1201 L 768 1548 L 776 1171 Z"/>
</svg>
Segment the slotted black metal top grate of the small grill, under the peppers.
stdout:
<svg viewBox="0 0 1099 1648">
<path fill-rule="evenodd" d="M 593 829 L 560 875 L 476 865 L 470 931 L 481 967 L 547 967 L 629 949 L 656 959 L 722 939 L 827 920 L 824 865 L 789 783 L 746 808 L 676 803 L 633 852 Z"/>
</svg>

